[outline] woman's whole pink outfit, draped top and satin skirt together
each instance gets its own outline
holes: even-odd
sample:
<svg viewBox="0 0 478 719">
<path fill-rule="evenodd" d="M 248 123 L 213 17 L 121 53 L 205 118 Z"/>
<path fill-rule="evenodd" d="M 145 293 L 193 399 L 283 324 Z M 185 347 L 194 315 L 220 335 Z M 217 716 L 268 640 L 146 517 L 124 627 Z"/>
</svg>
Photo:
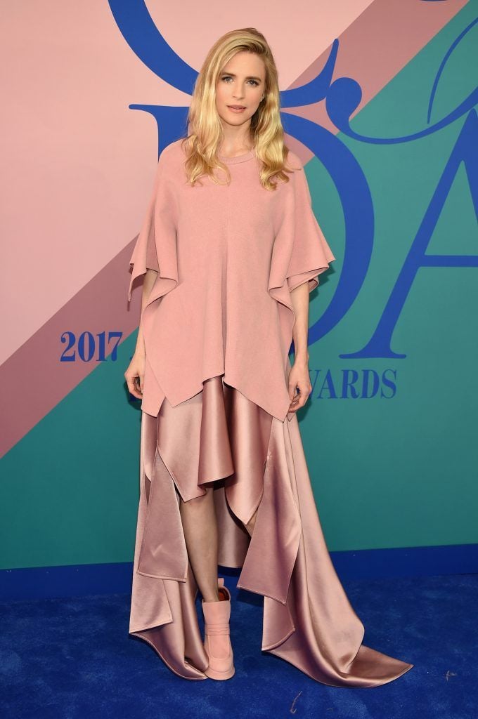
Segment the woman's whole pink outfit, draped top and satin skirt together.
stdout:
<svg viewBox="0 0 478 719">
<path fill-rule="evenodd" d="M 333 687 L 376 687 L 413 664 L 362 644 L 330 559 L 295 413 L 287 413 L 290 292 L 335 258 L 304 169 L 266 191 L 253 151 L 232 183 L 191 188 L 180 141 L 163 150 L 131 257 L 158 272 L 143 313 L 140 501 L 130 633 L 171 671 L 207 679 L 180 503 L 212 482 L 218 564 L 264 597 L 262 649 Z M 289 421 L 285 421 L 288 418 Z M 245 530 L 256 513 L 252 537 Z M 234 641 L 232 615 L 231 639 Z"/>
</svg>

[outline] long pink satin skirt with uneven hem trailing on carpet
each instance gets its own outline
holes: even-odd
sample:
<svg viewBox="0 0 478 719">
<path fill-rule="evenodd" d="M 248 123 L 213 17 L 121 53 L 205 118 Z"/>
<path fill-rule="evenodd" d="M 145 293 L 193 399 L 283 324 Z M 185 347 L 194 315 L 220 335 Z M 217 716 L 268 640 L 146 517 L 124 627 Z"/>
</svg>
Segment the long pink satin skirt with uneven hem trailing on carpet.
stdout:
<svg viewBox="0 0 478 719">
<path fill-rule="evenodd" d="M 262 651 L 331 687 L 376 687 L 413 667 L 362 644 L 330 559 L 297 416 L 279 421 L 223 375 L 158 417 L 142 413 L 130 633 L 184 679 L 207 679 L 179 511 L 214 482 L 218 564 L 263 595 Z M 252 537 L 245 531 L 258 509 Z"/>
</svg>

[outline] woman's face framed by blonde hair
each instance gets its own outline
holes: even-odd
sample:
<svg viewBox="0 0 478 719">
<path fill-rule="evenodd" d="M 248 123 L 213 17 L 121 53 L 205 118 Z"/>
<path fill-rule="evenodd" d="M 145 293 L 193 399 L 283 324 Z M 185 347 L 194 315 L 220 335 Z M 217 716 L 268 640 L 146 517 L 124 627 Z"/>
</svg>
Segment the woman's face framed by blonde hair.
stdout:
<svg viewBox="0 0 478 719">
<path fill-rule="evenodd" d="M 216 108 L 223 122 L 251 124 L 265 91 L 266 67 L 253 52 L 236 52 L 222 68 L 216 86 Z M 234 106 L 243 109 L 234 109 Z"/>
</svg>

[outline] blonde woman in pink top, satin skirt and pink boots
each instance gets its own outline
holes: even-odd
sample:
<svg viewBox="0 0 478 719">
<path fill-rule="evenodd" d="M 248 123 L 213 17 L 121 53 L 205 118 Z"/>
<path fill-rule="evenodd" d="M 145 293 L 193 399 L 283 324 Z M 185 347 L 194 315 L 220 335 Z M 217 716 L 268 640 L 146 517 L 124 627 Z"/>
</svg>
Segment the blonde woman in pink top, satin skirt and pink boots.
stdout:
<svg viewBox="0 0 478 719">
<path fill-rule="evenodd" d="M 218 564 L 263 595 L 263 651 L 317 681 L 374 687 L 413 666 L 361 645 L 299 434 L 309 293 L 334 259 L 284 146 L 269 45 L 228 32 L 197 78 L 189 134 L 161 152 L 131 257 L 129 297 L 144 277 L 125 372 L 142 399 L 130 633 L 185 679 L 235 671 Z"/>
</svg>

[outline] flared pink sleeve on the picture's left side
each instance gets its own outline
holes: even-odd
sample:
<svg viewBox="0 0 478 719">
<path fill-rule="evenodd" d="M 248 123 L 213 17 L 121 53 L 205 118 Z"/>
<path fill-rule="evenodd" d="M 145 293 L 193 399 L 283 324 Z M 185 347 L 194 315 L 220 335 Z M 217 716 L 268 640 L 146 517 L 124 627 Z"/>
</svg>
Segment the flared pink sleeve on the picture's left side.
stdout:
<svg viewBox="0 0 478 719">
<path fill-rule="evenodd" d="M 161 278 L 177 284 L 175 203 L 168 177 L 167 156 L 166 147 L 156 166 L 153 191 L 130 259 L 132 274 L 128 300 L 131 300 L 134 280 L 144 275 L 146 270 L 155 270 Z"/>
</svg>

